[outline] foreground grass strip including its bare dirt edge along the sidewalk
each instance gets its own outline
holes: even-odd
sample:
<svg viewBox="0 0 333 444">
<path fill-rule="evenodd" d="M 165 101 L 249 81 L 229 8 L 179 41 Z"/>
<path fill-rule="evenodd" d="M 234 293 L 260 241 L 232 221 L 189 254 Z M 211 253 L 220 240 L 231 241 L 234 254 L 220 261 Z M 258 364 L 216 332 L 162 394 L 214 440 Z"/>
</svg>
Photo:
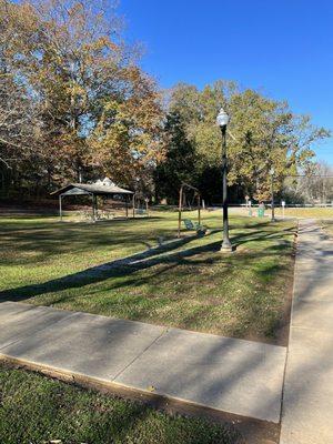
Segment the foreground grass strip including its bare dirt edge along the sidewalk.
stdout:
<svg viewBox="0 0 333 444">
<path fill-rule="evenodd" d="M 157 442 L 162 444 L 279 443 L 279 424 L 198 408 L 194 405 L 161 397 L 155 400 L 153 395 L 151 398 L 142 397 L 140 393 L 114 390 L 114 387 L 107 387 L 78 376 L 73 379 L 72 375 L 27 365 L 18 360 L 0 360 L 0 393 L 4 400 L 3 408 L 0 411 L 0 418 L 1 414 L 6 417 L 4 422 L 0 421 L 0 440 L 3 444 L 30 443 L 32 434 L 42 435 L 42 441 L 37 441 L 38 443 L 49 444 L 51 440 L 60 441 L 61 437 L 59 444 L 79 443 L 84 438 L 84 427 L 92 428 L 87 433 L 97 434 L 92 441 L 93 444 L 127 443 L 128 441 L 123 437 L 127 432 L 129 433 L 127 438 L 135 435 L 138 444 L 141 442 L 142 444 Z M 81 397 L 83 408 L 79 408 Z M 69 404 L 65 402 L 68 398 Z M 107 407 L 103 407 L 104 402 Z M 62 405 L 64 405 L 64 412 L 60 411 Z M 114 410 L 115 421 L 112 415 Z M 119 412 L 121 415 L 118 417 Z M 130 428 L 122 431 L 122 422 L 132 413 L 134 417 L 130 422 Z M 49 415 L 52 417 L 50 418 Z M 108 417 L 109 415 L 111 417 Z M 75 431 L 75 434 L 80 434 L 80 440 L 73 441 L 75 435 L 71 435 L 71 440 L 65 441 L 64 438 L 72 433 L 72 427 L 75 427 L 80 416 L 84 418 L 84 422 L 79 422 L 80 428 Z M 27 427 L 27 418 L 29 421 L 32 418 L 29 427 Z M 149 431 L 150 423 L 152 423 L 152 431 Z M 103 430 L 105 426 L 107 432 Z M 109 434 L 110 441 L 103 436 L 105 433 Z M 140 441 L 141 434 L 144 441 Z M 122 441 L 118 441 L 118 435 Z M 83 442 L 90 443 L 87 440 Z M 130 443 L 132 444 L 132 441 Z"/>
</svg>

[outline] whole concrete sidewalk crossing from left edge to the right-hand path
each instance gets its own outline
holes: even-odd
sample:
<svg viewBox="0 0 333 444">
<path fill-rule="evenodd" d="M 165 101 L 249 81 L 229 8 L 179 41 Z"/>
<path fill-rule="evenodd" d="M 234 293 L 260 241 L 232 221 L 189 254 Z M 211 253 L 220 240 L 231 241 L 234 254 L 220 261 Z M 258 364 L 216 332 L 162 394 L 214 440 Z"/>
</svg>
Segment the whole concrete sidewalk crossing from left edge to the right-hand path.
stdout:
<svg viewBox="0 0 333 444">
<path fill-rule="evenodd" d="M 14 302 L 0 325 L 2 357 L 280 422 L 285 347 Z"/>
</svg>

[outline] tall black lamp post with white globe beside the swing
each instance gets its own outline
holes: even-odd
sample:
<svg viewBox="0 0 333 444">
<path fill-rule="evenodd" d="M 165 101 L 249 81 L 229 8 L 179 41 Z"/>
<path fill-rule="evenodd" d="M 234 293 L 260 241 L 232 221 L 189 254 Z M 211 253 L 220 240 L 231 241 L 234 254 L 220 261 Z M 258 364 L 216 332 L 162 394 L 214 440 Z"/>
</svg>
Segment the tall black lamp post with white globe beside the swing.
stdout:
<svg viewBox="0 0 333 444">
<path fill-rule="evenodd" d="M 221 245 L 222 252 L 232 251 L 232 245 L 229 239 L 229 221 L 228 221 L 228 184 L 226 184 L 226 174 L 228 174 L 228 160 L 226 160 L 226 125 L 229 123 L 229 115 L 221 108 L 218 117 L 216 124 L 221 129 L 222 133 L 222 183 L 223 183 L 223 241 Z"/>
</svg>

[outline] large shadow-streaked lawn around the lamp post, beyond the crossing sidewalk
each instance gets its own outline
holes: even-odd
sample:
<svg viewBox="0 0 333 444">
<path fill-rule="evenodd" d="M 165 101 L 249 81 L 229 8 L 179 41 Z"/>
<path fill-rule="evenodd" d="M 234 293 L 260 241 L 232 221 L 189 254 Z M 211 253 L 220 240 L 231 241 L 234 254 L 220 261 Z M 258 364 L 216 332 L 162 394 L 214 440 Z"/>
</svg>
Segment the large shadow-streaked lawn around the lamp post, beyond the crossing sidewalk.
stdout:
<svg viewBox="0 0 333 444">
<path fill-rule="evenodd" d="M 98 224 L 2 218 L 0 299 L 280 341 L 293 279 L 292 221 L 232 216 L 238 250 L 223 255 L 221 212 L 204 212 L 212 230 L 204 238 L 186 239 L 139 265 L 93 270 L 155 245 L 158 236 L 174 238 L 176 216 L 159 212 Z"/>
</svg>

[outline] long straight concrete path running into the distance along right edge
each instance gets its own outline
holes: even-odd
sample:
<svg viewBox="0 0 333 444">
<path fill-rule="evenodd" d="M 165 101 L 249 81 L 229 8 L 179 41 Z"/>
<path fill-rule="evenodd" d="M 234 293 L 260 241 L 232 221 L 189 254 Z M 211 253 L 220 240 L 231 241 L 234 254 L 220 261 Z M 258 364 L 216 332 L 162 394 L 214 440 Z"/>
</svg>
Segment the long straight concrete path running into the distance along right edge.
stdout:
<svg viewBox="0 0 333 444">
<path fill-rule="evenodd" d="M 281 444 L 333 443 L 333 241 L 300 221 Z"/>
</svg>

